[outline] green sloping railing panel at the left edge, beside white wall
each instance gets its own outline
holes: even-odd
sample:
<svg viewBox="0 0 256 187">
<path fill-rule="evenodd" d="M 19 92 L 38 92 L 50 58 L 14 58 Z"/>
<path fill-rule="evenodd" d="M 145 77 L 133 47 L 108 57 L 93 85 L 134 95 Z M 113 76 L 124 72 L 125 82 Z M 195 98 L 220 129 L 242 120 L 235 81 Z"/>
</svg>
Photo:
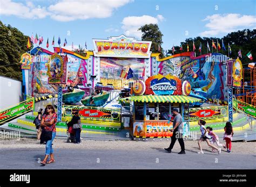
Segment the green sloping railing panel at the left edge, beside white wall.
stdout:
<svg viewBox="0 0 256 187">
<path fill-rule="evenodd" d="M 24 100 L 21 103 L 0 110 L 0 124 L 4 124 L 12 119 L 22 116 L 33 110 L 35 99 L 33 97 Z"/>
</svg>

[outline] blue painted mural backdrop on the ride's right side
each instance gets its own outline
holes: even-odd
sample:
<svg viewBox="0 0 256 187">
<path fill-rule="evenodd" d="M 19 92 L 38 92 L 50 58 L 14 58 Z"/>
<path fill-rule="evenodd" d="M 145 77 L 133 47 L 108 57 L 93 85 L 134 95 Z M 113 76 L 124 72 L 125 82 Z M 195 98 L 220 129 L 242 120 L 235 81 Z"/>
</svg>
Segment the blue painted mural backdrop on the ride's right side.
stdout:
<svg viewBox="0 0 256 187">
<path fill-rule="evenodd" d="M 210 53 L 194 57 L 193 52 L 173 55 L 170 59 L 158 61 L 158 73 L 173 74 L 188 81 L 192 90 L 205 93 L 208 98 L 226 100 L 224 66 L 227 56 Z"/>
</svg>

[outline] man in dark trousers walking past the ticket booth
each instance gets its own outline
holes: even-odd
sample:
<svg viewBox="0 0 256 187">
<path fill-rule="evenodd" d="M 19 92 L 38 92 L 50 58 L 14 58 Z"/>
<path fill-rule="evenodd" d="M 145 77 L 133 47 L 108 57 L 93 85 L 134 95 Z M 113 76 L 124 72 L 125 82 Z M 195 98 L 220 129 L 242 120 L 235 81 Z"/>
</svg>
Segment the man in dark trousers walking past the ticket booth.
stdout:
<svg viewBox="0 0 256 187">
<path fill-rule="evenodd" d="M 178 109 L 173 109 L 172 113 L 175 115 L 173 119 L 173 129 L 171 130 L 173 132 L 172 137 L 171 137 L 171 144 L 169 148 L 164 148 L 167 150 L 168 153 L 172 152 L 172 148 L 178 139 L 179 145 L 181 147 L 181 152 L 178 154 L 186 154 L 185 153 L 185 145 L 184 141 L 182 138 L 182 133 L 183 133 L 183 118 L 181 117 L 180 113 L 178 112 Z"/>
</svg>

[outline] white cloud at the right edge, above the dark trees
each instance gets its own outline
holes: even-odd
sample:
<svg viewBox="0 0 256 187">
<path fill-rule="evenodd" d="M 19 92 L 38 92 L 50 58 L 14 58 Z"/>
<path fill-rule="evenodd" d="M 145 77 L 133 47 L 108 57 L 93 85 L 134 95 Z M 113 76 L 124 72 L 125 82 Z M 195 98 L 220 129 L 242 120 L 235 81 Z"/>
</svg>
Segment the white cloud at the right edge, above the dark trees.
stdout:
<svg viewBox="0 0 256 187">
<path fill-rule="evenodd" d="M 229 32 L 251 28 L 255 26 L 256 16 L 239 15 L 230 13 L 225 15 L 207 16 L 203 21 L 208 21 L 205 25 L 208 30 L 201 32 L 203 37 L 214 36 L 217 34 L 226 34 Z"/>
</svg>

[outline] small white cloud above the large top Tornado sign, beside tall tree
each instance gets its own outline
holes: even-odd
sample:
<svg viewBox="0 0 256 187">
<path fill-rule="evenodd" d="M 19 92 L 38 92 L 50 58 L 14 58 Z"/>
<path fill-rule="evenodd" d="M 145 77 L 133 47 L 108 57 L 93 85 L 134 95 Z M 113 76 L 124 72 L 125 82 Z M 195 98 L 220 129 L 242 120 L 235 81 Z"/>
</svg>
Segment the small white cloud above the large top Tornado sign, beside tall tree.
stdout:
<svg viewBox="0 0 256 187">
<path fill-rule="evenodd" d="M 142 32 L 138 31 L 138 28 L 145 24 L 158 24 L 159 21 L 163 21 L 164 17 L 162 15 L 157 15 L 157 17 L 152 16 L 129 16 L 125 17 L 122 21 L 122 29 L 124 30 L 126 35 L 130 35 L 132 37 L 142 37 Z"/>
</svg>

